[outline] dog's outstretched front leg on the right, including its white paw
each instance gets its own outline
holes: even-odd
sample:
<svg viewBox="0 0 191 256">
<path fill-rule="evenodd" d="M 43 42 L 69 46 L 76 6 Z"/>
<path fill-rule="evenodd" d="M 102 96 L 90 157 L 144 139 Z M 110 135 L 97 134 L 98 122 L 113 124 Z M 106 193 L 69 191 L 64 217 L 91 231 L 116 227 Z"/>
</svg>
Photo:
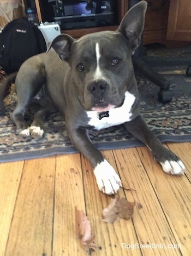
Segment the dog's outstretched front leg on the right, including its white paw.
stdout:
<svg viewBox="0 0 191 256">
<path fill-rule="evenodd" d="M 160 143 L 157 137 L 148 129 L 142 116 L 138 116 L 133 121 L 124 123 L 124 127 L 135 138 L 150 148 L 154 160 L 162 165 L 165 173 L 174 175 L 184 174 L 185 167 L 180 158 Z"/>
</svg>

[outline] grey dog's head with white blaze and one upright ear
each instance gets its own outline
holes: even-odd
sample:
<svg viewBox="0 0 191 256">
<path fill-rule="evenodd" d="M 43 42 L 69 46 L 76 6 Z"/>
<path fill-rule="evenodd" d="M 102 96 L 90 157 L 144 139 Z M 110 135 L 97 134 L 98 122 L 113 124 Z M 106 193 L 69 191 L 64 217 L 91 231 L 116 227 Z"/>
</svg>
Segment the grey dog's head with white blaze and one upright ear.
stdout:
<svg viewBox="0 0 191 256">
<path fill-rule="evenodd" d="M 141 1 L 129 9 L 115 32 L 78 40 L 62 34 L 52 41 L 50 48 L 70 66 L 75 93 L 85 110 L 103 112 L 123 104 L 134 79 L 132 55 L 140 43 L 146 7 Z"/>
</svg>

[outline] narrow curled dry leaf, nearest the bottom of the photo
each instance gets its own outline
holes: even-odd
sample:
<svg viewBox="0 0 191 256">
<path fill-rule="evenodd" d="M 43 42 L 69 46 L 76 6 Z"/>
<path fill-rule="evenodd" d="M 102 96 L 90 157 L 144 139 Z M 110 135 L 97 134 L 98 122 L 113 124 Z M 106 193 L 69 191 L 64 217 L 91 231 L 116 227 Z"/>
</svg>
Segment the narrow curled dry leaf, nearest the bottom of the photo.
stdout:
<svg viewBox="0 0 191 256">
<path fill-rule="evenodd" d="M 83 211 L 79 211 L 75 207 L 75 219 L 76 219 L 76 235 L 79 238 L 81 244 L 85 247 L 85 251 L 88 249 L 97 251 L 98 246 L 94 242 L 95 236 L 87 216 Z"/>
</svg>

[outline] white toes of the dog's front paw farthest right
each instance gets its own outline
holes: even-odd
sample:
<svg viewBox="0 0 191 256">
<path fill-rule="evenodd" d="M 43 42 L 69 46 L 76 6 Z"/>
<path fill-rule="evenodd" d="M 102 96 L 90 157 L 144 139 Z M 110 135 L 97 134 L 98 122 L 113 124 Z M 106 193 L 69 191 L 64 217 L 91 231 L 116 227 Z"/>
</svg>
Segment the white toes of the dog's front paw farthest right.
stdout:
<svg viewBox="0 0 191 256">
<path fill-rule="evenodd" d="M 165 173 L 172 175 L 182 175 L 185 173 L 185 166 L 181 160 L 160 162 Z"/>
</svg>

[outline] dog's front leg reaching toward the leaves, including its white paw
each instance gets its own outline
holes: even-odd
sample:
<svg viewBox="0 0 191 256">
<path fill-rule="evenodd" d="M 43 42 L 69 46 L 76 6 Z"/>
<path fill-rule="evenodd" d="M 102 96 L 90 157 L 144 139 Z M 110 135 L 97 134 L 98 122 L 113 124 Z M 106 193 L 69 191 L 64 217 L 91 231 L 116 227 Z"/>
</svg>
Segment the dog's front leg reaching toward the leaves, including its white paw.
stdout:
<svg viewBox="0 0 191 256">
<path fill-rule="evenodd" d="M 121 179 L 109 162 L 104 159 L 102 153 L 93 145 L 87 135 L 87 130 L 69 128 L 67 132 L 71 143 L 91 162 L 99 190 L 107 195 L 115 194 L 122 186 Z"/>
</svg>

